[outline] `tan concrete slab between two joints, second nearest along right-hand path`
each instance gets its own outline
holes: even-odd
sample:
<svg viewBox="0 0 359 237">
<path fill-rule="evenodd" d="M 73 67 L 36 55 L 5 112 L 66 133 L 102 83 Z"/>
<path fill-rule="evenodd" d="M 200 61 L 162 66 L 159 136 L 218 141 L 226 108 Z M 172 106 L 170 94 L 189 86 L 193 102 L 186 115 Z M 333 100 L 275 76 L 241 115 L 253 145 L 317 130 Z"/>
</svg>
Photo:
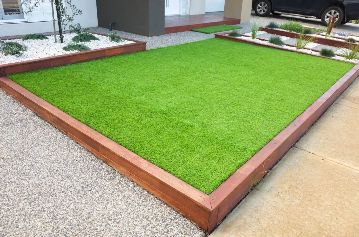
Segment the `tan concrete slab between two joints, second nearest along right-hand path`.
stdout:
<svg viewBox="0 0 359 237">
<path fill-rule="evenodd" d="M 333 104 L 295 147 L 359 171 L 359 110 Z"/>
</svg>

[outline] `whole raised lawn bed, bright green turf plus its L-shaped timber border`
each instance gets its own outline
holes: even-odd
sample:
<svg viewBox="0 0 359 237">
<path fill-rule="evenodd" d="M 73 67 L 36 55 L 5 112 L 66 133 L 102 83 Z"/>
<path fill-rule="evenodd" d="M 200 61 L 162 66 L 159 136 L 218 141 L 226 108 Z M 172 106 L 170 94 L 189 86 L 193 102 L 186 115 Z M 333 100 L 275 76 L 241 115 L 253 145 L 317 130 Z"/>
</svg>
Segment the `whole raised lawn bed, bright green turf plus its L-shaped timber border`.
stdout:
<svg viewBox="0 0 359 237">
<path fill-rule="evenodd" d="M 9 75 L 0 87 L 210 232 L 358 75 L 358 65 L 209 39 Z"/>
</svg>

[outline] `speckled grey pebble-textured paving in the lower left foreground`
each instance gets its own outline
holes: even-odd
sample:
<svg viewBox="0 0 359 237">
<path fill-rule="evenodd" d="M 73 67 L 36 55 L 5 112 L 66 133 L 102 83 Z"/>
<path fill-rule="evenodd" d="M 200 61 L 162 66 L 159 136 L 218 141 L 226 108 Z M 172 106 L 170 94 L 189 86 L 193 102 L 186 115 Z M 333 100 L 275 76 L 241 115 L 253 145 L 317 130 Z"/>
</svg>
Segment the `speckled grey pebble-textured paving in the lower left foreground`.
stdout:
<svg viewBox="0 0 359 237">
<path fill-rule="evenodd" d="M 0 89 L 0 236 L 205 236 Z"/>
</svg>

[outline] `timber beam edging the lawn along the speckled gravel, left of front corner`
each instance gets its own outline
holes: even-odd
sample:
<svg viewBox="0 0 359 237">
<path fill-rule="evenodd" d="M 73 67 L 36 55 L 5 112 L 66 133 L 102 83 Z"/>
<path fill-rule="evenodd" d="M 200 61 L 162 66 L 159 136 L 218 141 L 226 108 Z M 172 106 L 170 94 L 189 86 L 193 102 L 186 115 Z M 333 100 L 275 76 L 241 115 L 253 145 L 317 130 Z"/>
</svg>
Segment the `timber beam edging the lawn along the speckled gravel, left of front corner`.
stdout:
<svg viewBox="0 0 359 237">
<path fill-rule="evenodd" d="M 96 132 L 7 77 L 0 87 L 125 176 L 207 229 L 209 196 Z"/>
</svg>

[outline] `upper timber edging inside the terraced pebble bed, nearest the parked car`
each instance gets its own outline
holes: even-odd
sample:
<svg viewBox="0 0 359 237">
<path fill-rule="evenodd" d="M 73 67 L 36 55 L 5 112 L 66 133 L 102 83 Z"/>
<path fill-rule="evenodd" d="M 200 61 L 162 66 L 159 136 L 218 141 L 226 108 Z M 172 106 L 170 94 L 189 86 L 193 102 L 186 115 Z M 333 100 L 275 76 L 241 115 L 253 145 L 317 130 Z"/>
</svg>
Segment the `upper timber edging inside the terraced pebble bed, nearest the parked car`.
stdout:
<svg viewBox="0 0 359 237">
<path fill-rule="evenodd" d="M 266 31 L 269 34 L 282 35 L 282 36 L 286 36 L 286 37 L 290 37 L 290 38 L 296 38 L 298 35 L 308 36 L 308 35 L 305 35 L 305 34 L 300 34 L 300 33 L 295 33 L 295 32 L 290 32 L 290 31 L 277 30 L 277 29 L 271 29 L 271 28 L 267 28 L 267 27 L 260 27 L 259 30 Z M 347 48 L 348 45 L 355 45 L 354 43 L 349 43 L 349 42 L 346 42 L 346 41 L 340 41 L 340 40 L 316 37 L 316 36 L 312 36 L 312 35 L 311 35 L 311 37 L 313 37 L 315 39 L 315 43 L 324 44 L 324 45 L 328 45 L 328 46 Z"/>
</svg>

